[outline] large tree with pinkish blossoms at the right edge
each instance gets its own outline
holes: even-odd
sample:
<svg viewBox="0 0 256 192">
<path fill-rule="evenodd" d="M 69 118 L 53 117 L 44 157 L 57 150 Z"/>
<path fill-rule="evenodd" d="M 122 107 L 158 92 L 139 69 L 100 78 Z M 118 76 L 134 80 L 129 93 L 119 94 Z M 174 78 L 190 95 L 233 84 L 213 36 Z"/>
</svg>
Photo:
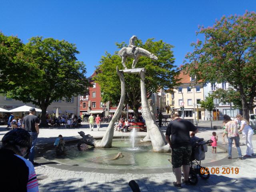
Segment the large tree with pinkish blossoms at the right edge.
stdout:
<svg viewBox="0 0 256 192">
<path fill-rule="evenodd" d="M 190 75 L 211 82 L 228 82 L 240 93 L 244 117 L 255 107 L 256 14 L 223 16 L 212 27 L 200 27 L 204 42 L 193 43 L 184 66 Z"/>
</svg>

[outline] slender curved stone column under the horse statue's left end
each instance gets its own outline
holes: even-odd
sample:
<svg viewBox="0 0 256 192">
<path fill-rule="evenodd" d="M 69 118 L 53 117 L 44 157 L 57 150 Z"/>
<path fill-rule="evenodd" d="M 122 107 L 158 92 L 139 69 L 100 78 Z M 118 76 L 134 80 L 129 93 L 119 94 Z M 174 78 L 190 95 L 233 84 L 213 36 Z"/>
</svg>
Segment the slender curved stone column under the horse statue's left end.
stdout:
<svg viewBox="0 0 256 192">
<path fill-rule="evenodd" d="M 124 73 L 120 72 L 118 70 L 118 66 L 116 66 L 116 72 L 120 78 L 121 81 L 121 98 L 120 102 L 118 104 L 118 107 L 116 109 L 116 112 L 114 113 L 114 116 L 112 117 L 112 120 L 110 121 L 108 128 L 102 138 L 101 141 L 97 141 L 94 146 L 99 148 L 111 148 L 112 147 L 112 140 L 114 136 L 114 125 L 115 122 L 118 120 L 118 117 L 120 116 L 122 112 L 122 108 L 124 105 L 124 98 L 125 98 L 125 83 L 124 83 Z"/>
</svg>

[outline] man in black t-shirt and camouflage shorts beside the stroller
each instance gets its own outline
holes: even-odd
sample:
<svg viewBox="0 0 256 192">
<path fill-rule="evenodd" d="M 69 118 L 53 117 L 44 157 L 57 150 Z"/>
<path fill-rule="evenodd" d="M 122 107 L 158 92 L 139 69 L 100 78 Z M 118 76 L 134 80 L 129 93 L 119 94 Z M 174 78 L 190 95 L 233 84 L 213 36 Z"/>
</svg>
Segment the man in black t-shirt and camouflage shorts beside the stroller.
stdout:
<svg viewBox="0 0 256 192">
<path fill-rule="evenodd" d="M 177 180 L 173 184 L 177 188 L 181 188 L 181 166 L 184 173 L 184 182 L 186 185 L 189 184 L 189 161 L 192 152 L 190 131 L 197 133 L 198 129 L 191 122 L 180 119 L 178 114 L 172 115 L 172 122 L 168 124 L 165 136 L 172 148 L 172 166 Z"/>
</svg>

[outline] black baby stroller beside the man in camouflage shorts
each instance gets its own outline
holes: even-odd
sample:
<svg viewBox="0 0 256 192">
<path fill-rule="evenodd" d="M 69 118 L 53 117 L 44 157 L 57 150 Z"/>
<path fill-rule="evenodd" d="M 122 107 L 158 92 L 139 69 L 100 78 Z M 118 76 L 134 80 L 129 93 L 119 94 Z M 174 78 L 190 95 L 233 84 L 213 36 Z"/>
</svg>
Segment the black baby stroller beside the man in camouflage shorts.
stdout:
<svg viewBox="0 0 256 192">
<path fill-rule="evenodd" d="M 205 158 L 205 152 L 207 152 L 207 145 L 213 142 L 212 140 L 204 142 L 204 138 L 195 138 L 196 140 L 192 141 L 192 154 L 189 164 L 190 170 L 188 180 L 191 185 L 196 185 L 198 183 L 197 174 L 200 176 L 200 178 L 204 180 L 210 177 L 209 170 L 206 172 L 206 168 L 201 166 L 201 160 L 204 160 Z M 172 171 L 174 173 L 174 168 L 172 168 Z"/>
</svg>

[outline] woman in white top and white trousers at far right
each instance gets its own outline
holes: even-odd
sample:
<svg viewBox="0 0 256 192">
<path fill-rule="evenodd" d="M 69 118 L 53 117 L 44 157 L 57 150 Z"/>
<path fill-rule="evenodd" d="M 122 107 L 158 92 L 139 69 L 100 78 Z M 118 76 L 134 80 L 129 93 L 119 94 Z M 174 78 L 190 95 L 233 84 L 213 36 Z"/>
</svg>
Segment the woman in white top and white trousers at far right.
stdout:
<svg viewBox="0 0 256 192">
<path fill-rule="evenodd" d="M 245 120 L 240 114 L 236 116 L 238 120 L 241 122 L 240 132 L 246 135 L 246 155 L 245 157 L 250 157 L 253 154 L 253 147 L 252 147 L 252 136 L 253 130 L 249 125 L 248 121 Z"/>
</svg>

